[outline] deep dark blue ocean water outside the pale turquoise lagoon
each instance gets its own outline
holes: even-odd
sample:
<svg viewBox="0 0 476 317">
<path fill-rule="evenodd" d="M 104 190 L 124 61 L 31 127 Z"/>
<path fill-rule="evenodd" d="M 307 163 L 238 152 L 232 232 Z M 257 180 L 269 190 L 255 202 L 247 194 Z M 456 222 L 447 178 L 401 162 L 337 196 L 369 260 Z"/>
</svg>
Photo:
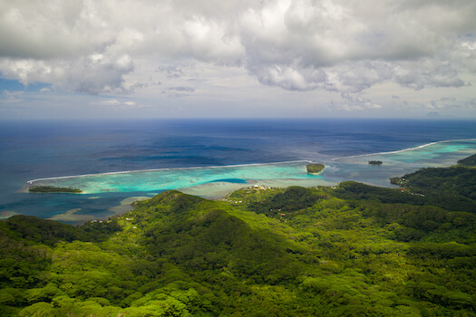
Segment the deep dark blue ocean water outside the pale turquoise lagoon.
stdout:
<svg viewBox="0 0 476 317">
<path fill-rule="evenodd" d="M 474 120 L 121 120 L 0 122 L 0 212 L 49 217 L 102 199 L 16 193 L 34 178 L 150 168 L 319 160 L 476 138 Z M 141 195 L 140 193 L 138 195 Z"/>
</svg>

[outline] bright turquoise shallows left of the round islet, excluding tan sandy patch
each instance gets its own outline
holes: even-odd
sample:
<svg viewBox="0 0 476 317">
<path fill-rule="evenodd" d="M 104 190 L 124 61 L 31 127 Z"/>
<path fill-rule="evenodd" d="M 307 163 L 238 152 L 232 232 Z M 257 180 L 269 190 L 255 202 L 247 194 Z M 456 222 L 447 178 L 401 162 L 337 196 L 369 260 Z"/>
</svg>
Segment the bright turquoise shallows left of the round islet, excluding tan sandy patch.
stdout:
<svg viewBox="0 0 476 317">
<path fill-rule="evenodd" d="M 34 185 L 81 188 L 84 194 L 139 192 L 195 187 L 209 183 L 254 184 L 277 179 L 322 178 L 306 173 L 306 161 L 212 168 L 172 168 L 34 181 Z"/>
</svg>

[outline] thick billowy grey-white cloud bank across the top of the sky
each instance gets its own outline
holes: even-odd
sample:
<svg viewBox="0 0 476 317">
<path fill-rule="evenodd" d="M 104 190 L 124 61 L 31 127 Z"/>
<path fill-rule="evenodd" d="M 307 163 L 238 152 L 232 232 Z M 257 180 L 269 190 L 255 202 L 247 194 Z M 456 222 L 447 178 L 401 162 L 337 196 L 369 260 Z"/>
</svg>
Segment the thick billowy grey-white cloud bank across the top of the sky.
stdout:
<svg viewBox="0 0 476 317">
<path fill-rule="evenodd" d="M 184 61 L 243 67 L 288 91 L 463 87 L 461 74 L 476 72 L 473 0 L 17 0 L 0 8 L 1 76 L 54 90 L 129 93 L 154 71 L 180 80 Z"/>
</svg>

